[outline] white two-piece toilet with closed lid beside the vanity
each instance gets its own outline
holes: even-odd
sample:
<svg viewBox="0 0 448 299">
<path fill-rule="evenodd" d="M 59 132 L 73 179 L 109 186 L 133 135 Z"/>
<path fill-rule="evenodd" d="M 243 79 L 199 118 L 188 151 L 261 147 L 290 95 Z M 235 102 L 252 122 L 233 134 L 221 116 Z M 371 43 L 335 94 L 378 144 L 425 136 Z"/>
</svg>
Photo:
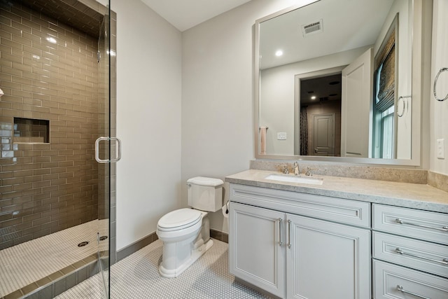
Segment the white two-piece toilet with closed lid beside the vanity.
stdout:
<svg viewBox="0 0 448 299">
<path fill-rule="evenodd" d="M 188 206 L 160 218 L 157 235 L 163 242 L 163 277 L 177 277 L 212 245 L 208 211 L 218 211 L 223 202 L 223 181 L 197 176 L 187 181 Z"/>
</svg>

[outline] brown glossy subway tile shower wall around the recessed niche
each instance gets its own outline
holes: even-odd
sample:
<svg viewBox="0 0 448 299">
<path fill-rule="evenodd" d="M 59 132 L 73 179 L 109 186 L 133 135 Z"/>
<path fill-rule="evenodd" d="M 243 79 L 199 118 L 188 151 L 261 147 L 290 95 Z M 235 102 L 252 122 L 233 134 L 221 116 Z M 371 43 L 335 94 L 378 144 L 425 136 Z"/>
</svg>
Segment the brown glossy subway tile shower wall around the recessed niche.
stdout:
<svg viewBox="0 0 448 299">
<path fill-rule="evenodd" d="M 13 1 L 18 3 L 18 1 Z M 0 249 L 98 217 L 97 39 L 0 2 Z M 56 43 L 47 38 L 52 37 Z M 49 120 L 49 143 L 15 143 L 13 118 Z"/>
</svg>

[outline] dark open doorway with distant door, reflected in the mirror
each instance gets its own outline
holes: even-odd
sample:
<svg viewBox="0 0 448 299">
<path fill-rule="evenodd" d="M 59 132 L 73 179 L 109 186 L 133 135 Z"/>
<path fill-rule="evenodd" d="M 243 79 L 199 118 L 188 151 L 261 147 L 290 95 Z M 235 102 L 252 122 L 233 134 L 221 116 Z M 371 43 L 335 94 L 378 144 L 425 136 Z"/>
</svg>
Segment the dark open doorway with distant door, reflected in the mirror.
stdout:
<svg viewBox="0 0 448 299">
<path fill-rule="evenodd" d="M 300 78 L 300 155 L 340 156 L 341 73 Z"/>
</svg>

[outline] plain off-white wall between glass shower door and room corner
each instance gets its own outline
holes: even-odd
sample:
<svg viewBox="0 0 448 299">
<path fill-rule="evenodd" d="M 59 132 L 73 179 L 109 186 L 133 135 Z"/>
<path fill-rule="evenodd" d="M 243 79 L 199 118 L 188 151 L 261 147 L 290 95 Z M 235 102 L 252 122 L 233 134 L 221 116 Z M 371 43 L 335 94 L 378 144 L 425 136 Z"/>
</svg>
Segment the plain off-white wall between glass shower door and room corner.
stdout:
<svg viewBox="0 0 448 299">
<path fill-rule="evenodd" d="M 117 13 L 117 249 L 155 232 L 181 197 L 181 32 L 139 0 Z"/>
</svg>

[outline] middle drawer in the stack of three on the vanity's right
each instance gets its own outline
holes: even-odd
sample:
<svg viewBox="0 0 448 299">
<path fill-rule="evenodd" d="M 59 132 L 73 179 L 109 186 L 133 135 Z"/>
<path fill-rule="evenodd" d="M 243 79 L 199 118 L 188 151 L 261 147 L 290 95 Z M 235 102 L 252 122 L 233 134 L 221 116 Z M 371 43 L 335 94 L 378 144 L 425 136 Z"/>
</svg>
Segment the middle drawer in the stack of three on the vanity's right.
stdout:
<svg viewBox="0 0 448 299">
<path fill-rule="evenodd" d="M 373 257 L 448 277 L 448 246 L 373 232 Z"/>
</svg>

